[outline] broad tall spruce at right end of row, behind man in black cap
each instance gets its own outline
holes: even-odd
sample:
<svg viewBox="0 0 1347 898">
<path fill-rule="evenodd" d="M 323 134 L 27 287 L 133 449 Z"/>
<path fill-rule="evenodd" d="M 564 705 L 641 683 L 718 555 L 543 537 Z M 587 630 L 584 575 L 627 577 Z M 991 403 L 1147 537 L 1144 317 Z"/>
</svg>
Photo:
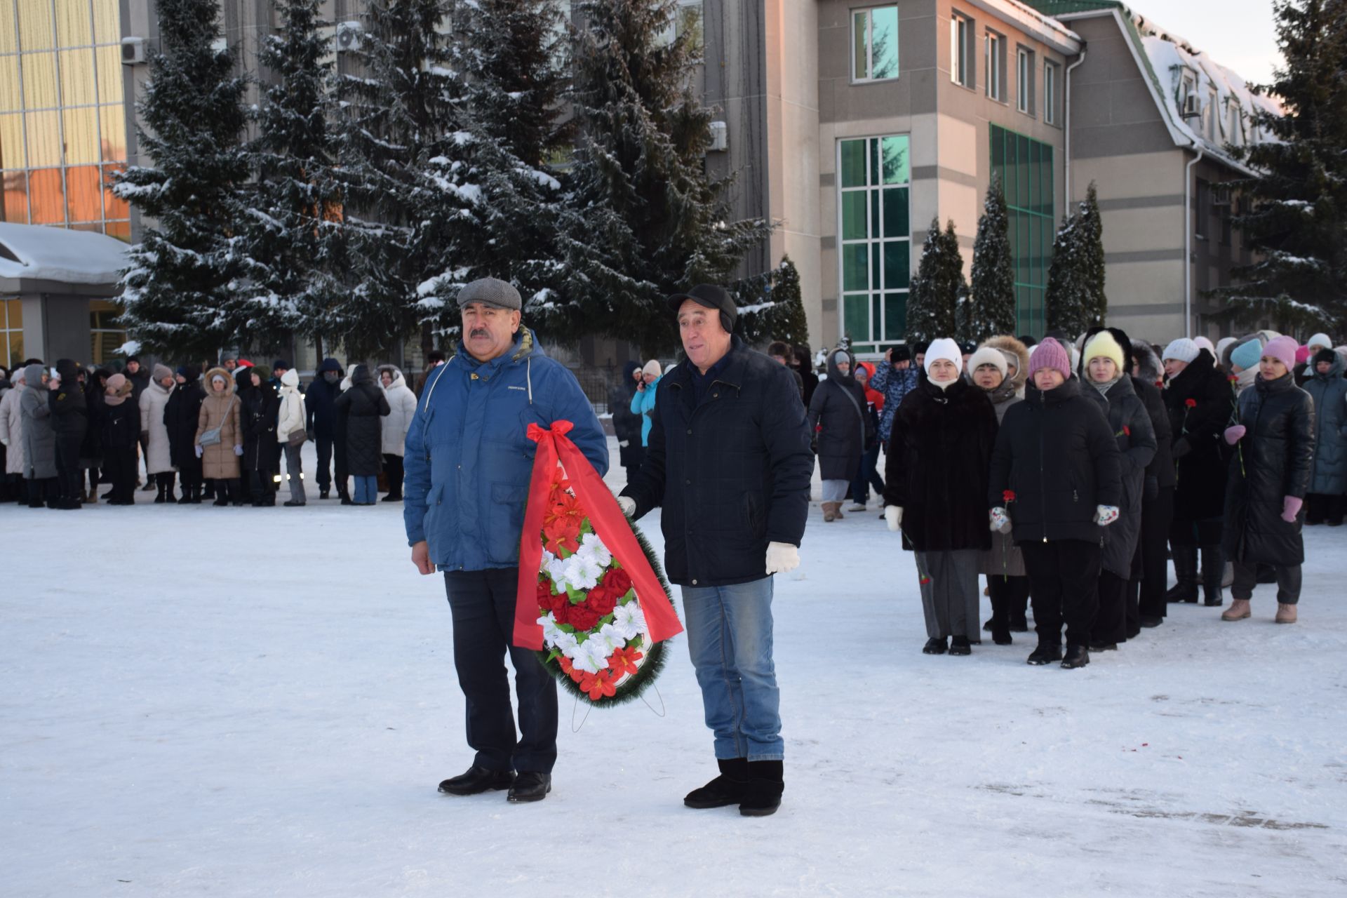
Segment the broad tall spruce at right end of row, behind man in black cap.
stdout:
<svg viewBox="0 0 1347 898">
<path fill-rule="evenodd" d="M 564 279 L 528 314 L 562 339 L 606 334 L 667 353 L 665 296 L 725 283 L 769 233 L 735 221 L 731 179 L 704 171 L 711 110 L 692 93 L 692 35 L 672 43 L 672 0 L 586 0 L 574 35 L 578 127 L 559 229 Z"/>
</svg>

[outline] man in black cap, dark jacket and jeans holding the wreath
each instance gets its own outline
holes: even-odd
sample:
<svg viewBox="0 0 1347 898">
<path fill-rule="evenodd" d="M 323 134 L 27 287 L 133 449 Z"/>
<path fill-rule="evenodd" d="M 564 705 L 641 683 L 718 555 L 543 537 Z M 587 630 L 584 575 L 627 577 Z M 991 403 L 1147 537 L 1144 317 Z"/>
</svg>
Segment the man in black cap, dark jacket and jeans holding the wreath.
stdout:
<svg viewBox="0 0 1347 898">
<path fill-rule="evenodd" d="M 660 380 L 645 463 L 618 498 L 663 508 L 664 569 L 683 591 L 687 646 L 721 775 L 690 808 L 769 815 L 784 789 L 772 661 L 772 575 L 799 564 L 814 455 L 795 378 L 733 335 L 721 287 L 669 298 L 687 359 Z"/>
</svg>

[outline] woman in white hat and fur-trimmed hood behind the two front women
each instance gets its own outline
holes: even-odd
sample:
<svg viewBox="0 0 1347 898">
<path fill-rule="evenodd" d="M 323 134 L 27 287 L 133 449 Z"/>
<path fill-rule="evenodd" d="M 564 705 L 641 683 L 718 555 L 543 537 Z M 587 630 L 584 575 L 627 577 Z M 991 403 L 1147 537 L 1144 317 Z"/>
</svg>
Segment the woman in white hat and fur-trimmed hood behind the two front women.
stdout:
<svg viewBox="0 0 1347 898">
<path fill-rule="evenodd" d="M 1028 377 L 1029 350 L 1013 337 L 994 337 L 968 358 L 974 385 L 991 400 L 997 425 L 1005 420 L 1006 409 L 1022 401 L 1020 390 Z M 1014 372 L 1014 374 L 1012 374 Z M 983 626 L 991 630 L 991 641 L 1010 645 L 1010 633 L 1029 629 L 1029 572 L 1024 568 L 1024 553 L 1005 533 L 991 534 L 991 551 L 982 555 L 982 572 L 987 578 L 991 595 L 991 619 Z"/>
</svg>

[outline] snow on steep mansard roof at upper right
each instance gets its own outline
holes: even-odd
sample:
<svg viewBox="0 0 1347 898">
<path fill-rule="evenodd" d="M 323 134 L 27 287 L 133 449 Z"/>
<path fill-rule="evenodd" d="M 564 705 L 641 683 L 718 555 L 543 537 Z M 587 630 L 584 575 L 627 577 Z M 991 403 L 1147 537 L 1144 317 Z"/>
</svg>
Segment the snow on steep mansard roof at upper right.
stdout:
<svg viewBox="0 0 1347 898">
<path fill-rule="evenodd" d="M 1180 133 L 1219 156 L 1226 156 L 1227 144 L 1243 147 L 1274 140 L 1254 125 L 1253 117 L 1257 112 L 1285 114 L 1281 104 L 1254 94 L 1239 73 L 1215 62 L 1183 38 L 1140 18 L 1136 24 L 1150 67 L 1160 81 L 1161 100 Z M 1184 97 L 1189 94 L 1197 97 L 1200 116 L 1184 117 Z"/>
</svg>

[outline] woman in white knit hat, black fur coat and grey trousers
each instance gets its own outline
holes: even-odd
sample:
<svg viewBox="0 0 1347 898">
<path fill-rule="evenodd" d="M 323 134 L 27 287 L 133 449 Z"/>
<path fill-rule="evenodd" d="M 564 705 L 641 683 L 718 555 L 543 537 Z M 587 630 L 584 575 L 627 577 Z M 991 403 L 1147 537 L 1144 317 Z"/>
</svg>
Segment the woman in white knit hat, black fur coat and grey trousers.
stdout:
<svg viewBox="0 0 1347 898">
<path fill-rule="evenodd" d="M 978 568 L 991 549 L 982 513 L 997 413 L 962 369 L 959 345 L 933 341 L 889 439 L 884 514 L 916 552 L 927 654 L 970 654 L 979 641 Z"/>
</svg>

